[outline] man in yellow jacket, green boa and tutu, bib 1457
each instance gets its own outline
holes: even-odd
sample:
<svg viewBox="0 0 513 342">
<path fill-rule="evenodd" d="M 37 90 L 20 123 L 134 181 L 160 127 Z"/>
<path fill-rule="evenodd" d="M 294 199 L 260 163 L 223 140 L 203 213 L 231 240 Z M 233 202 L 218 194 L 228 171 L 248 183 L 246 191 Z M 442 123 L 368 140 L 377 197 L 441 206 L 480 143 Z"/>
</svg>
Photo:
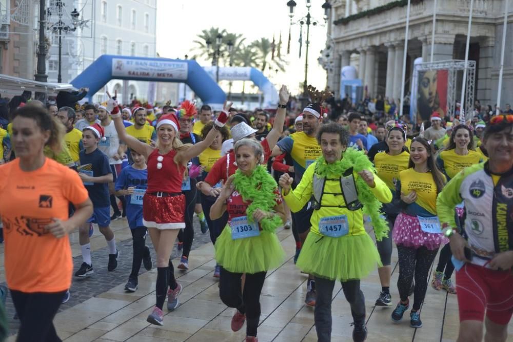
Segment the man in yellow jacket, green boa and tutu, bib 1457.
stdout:
<svg viewBox="0 0 513 342">
<path fill-rule="evenodd" d="M 349 133 L 342 126 L 323 125 L 317 140 L 323 155 L 308 167 L 297 188 L 290 190 L 292 179 L 288 174 L 281 176 L 279 182 L 292 212 L 314 198 L 310 233 L 297 265 L 315 276 L 314 317 L 318 341 L 331 339 L 331 297 L 336 280 L 341 281 L 351 305 L 353 340 L 364 341 L 367 328 L 360 279 L 377 265 L 381 266 L 381 262 L 374 242 L 365 231 L 363 214 L 371 217 L 376 238 L 381 240 L 389 229 L 380 217 L 381 203 L 390 202 L 392 194 L 374 174 L 367 156 L 347 148 Z"/>
</svg>

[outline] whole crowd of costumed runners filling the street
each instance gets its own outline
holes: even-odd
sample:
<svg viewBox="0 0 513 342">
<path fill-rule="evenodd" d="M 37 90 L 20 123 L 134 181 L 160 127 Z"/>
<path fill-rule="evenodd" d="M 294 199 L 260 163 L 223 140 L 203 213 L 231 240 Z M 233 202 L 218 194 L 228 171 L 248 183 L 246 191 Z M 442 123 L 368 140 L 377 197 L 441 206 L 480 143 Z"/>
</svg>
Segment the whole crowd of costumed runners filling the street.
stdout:
<svg viewBox="0 0 513 342">
<path fill-rule="evenodd" d="M 72 277 L 95 277 L 95 227 L 108 255 L 94 268 L 114 271 L 130 256 L 120 255 L 110 225 L 126 218 L 133 253 L 125 290 L 137 291 L 141 266 L 156 267 L 147 317 L 154 325 L 180 310 L 175 273 L 189 269 L 194 234 L 208 231 L 220 298 L 235 309 L 231 329 L 246 325 L 246 341 L 258 341 L 260 295 L 266 272 L 284 261 L 284 227 L 298 272 L 308 275 L 305 304 L 319 341 L 331 339 L 335 281 L 351 308 L 353 340 L 379 334 L 367 331 L 360 289 L 376 269 L 376 306 L 392 307 L 390 324 L 409 310 L 409 326 L 421 328 L 430 285 L 457 295 L 459 341 L 505 341 L 513 314 L 513 114 L 465 120 L 459 112 L 451 120 L 433 112 L 415 126 L 397 114 L 335 116 L 329 92 L 309 94 L 311 102 L 295 108 L 282 86 L 277 108 L 251 112 L 188 100 L 123 106 L 110 95 L 103 104 L 9 105 L 0 128 L 0 215 L 17 340 L 60 340 L 52 321 L 73 295 Z M 83 262 L 73 270 L 75 229 Z M 398 298 L 390 294 L 394 244 Z"/>
</svg>

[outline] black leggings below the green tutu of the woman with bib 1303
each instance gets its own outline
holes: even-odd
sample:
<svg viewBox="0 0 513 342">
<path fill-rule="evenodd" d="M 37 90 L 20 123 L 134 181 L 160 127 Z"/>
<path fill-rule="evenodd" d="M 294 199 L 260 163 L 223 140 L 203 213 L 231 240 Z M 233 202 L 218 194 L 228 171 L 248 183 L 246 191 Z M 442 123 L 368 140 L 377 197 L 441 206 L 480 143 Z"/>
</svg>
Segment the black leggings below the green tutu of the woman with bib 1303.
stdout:
<svg viewBox="0 0 513 342">
<path fill-rule="evenodd" d="M 246 335 L 257 336 L 260 320 L 260 294 L 264 286 L 266 272 L 246 274 L 244 291 L 241 289 L 242 273 L 232 273 L 221 267 L 219 296 L 230 308 L 246 314 Z"/>
</svg>

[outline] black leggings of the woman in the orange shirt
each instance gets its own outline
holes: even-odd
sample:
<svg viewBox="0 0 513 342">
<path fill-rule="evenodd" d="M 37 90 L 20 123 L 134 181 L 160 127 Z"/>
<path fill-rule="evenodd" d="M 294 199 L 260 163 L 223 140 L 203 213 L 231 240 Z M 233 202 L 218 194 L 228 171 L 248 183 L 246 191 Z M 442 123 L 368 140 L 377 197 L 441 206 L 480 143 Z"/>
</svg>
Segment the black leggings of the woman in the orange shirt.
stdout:
<svg viewBox="0 0 513 342">
<path fill-rule="evenodd" d="M 66 291 L 25 293 L 11 290 L 12 302 L 20 326 L 17 342 L 60 342 L 53 326 L 53 317 L 61 306 Z"/>
</svg>

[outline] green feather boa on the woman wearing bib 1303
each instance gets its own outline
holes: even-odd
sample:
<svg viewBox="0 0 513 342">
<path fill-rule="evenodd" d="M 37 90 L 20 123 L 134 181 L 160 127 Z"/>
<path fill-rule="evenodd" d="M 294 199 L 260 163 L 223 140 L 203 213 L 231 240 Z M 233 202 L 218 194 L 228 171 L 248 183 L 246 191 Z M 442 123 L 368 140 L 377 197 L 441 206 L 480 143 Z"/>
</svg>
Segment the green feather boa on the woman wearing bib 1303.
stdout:
<svg viewBox="0 0 513 342">
<path fill-rule="evenodd" d="M 241 170 L 235 171 L 233 185 L 235 190 L 241 194 L 242 199 L 251 201 L 251 204 L 246 210 L 249 222 L 253 221 L 253 213 L 257 209 L 265 212 L 273 211 L 276 205 L 276 194 L 274 190 L 278 185 L 262 165 L 257 166 L 250 176 L 246 176 Z M 260 221 L 260 228 L 272 233 L 282 224 L 283 222 L 280 216 L 272 215 Z"/>
</svg>

